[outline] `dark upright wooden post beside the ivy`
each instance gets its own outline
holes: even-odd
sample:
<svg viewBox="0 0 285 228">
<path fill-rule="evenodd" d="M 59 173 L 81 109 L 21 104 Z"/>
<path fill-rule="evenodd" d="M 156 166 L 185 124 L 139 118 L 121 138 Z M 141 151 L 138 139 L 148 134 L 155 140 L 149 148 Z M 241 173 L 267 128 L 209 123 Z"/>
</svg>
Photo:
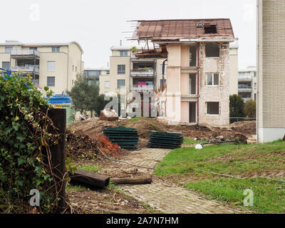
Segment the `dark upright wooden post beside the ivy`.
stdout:
<svg viewBox="0 0 285 228">
<path fill-rule="evenodd" d="M 61 200 L 58 201 L 58 209 L 56 213 L 63 212 L 66 209 L 66 109 L 52 108 L 48 110 L 48 117 L 51 118 L 53 124 L 58 128 L 59 133 L 63 135 L 58 144 L 50 147 L 51 150 L 51 165 L 53 167 L 53 173 L 56 175 L 56 189 L 58 191 L 58 197 Z M 48 129 L 48 133 L 54 133 L 51 128 Z M 43 155 L 46 153 L 46 147 L 43 147 Z"/>
</svg>

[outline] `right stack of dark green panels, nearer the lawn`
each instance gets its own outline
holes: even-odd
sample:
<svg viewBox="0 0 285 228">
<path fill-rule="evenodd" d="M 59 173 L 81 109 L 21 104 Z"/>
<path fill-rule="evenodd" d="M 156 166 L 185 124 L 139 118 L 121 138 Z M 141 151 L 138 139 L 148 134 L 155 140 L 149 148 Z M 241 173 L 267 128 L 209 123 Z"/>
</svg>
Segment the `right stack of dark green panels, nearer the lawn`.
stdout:
<svg viewBox="0 0 285 228">
<path fill-rule="evenodd" d="M 183 143 L 184 135 L 182 133 L 172 133 L 164 131 L 150 132 L 150 139 L 147 142 L 147 147 L 175 149 L 180 148 Z"/>
</svg>

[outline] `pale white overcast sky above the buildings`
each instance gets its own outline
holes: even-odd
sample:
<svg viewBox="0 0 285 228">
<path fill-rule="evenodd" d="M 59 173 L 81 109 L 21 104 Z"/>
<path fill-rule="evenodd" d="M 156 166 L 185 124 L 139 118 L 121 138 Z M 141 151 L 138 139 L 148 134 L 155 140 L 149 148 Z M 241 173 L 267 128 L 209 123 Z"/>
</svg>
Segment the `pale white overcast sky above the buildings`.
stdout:
<svg viewBox="0 0 285 228">
<path fill-rule="evenodd" d="M 106 67 L 135 19 L 229 18 L 239 37 L 239 69 L 256 64 L 256 0 L 1 0 L 1 38 L 22 43 L 78 41 L 86 68 Z"/>
</svg>

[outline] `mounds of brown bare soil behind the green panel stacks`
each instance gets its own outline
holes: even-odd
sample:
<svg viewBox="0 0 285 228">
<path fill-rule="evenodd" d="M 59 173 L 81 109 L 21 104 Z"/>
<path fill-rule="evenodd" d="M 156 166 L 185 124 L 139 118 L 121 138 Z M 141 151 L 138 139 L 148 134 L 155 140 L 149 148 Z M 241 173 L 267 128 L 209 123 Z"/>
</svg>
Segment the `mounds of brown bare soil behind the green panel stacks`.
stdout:
<svg viewBox="0 0 285 228">
<path fill-rule="evenodd" d="M 210 127 L 207 128 L 204 126 L 199 126 L 197 128 L 195 125 L 167 125 L 155 118 L 142 118 L 134 122 L 128 119 L 110 122 L 93 118 L 75 123 L 69 128 L 70 130 L 82 130 L 83 133 L 88 135 L 90 138 L 95 138 L 96 134 L 102 134 L 102 128 L 104 126 L 125 126 L 126 128 L 138 129 L 140 147 L 145 147 L 147 144 L 148 135 L 151 130 L 180 132 L 183 133 L 185 137 L 200 138 L 202 140 L 215 139 L 221 135 L 223 136 L 224 140 L 233 140 L 237 133 L 242 134 L 247 138 L 251 138 L 252 135 L 256 135 L 256 121 L 232 123 L 229 125 L 228 129 L 222 129 Z"/>
</svg>

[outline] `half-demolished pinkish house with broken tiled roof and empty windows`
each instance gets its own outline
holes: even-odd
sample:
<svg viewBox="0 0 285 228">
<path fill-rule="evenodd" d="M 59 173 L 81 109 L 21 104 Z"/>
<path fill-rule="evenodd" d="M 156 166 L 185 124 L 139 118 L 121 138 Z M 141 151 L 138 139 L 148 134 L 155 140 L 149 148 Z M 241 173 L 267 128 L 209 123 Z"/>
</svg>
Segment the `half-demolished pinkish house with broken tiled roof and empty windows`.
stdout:
<svg viewBox="0 0 285 228">
<path fill-rule="evenodd" d="M 229 19 L 138 21 L 133 39 L 151 41 L 167 56 L 169 123 L 229 125 Z"/>
</svg>

